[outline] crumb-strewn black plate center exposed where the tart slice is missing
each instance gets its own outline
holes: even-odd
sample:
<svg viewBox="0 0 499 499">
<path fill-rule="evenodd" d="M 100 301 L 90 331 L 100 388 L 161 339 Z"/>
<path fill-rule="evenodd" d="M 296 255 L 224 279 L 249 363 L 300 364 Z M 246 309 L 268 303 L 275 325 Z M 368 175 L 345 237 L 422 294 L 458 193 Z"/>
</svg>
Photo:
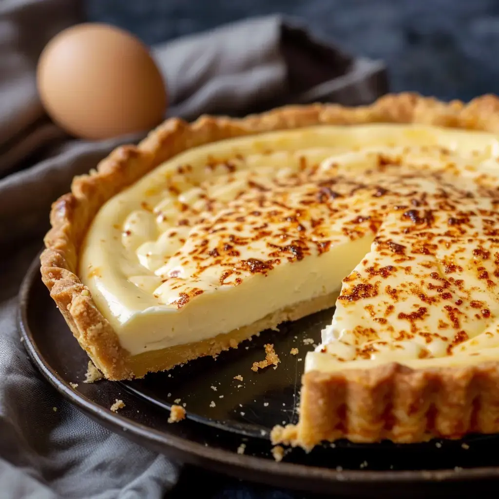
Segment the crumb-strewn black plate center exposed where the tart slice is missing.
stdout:
<svg viewBox="0 0 499 499">
<path fill-rule="evenodd" d="M 305 353 L 320 341 L 320 330 L 331 316 L 332 310 L 324 310 L 282 324 L 279 331 L 264 331 L 216 359 L 204 357 L 122 385 L 162 408 L 170 409 L 175 401 L 185 403 L 193 421 L 268 440 L 275 424 L 296 423 Z M 265 358 L 266 343 L 274 345 L 280 362 L 254 372 L 250 368 Z M 298 354 L 291 355 L 292 348 Z"/>
</svg>

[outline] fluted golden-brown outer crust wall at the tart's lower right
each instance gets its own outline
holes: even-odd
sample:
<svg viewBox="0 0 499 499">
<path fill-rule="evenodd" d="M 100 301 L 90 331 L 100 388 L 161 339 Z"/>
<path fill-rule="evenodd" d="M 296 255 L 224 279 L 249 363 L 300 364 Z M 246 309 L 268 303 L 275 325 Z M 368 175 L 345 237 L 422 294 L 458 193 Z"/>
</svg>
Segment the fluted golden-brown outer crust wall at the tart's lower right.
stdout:
<svg viewBox="0 0 499 499">
<path fill-rule="evenodd" d="M 272 443 L 310 449 L 322 440 L 424 442 L 497 433 L 499 364 L 411 369 L 397 363 L 302 378 L 299 423 Z"/>
</svg>

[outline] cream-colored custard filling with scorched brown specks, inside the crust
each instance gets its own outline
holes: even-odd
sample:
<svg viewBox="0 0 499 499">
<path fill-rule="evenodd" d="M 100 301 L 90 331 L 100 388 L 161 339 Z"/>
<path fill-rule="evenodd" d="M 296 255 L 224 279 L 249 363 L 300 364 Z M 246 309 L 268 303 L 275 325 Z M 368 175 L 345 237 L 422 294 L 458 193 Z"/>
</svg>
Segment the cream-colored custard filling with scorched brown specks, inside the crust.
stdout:
<svg viewBox="0 0 499 499">
<path fill-rule="evenodd" d="M 495 324 L 495 291 L 486 286 L 484 296 L 482 281 L 477 284 L 468 272 L 460 289 L 432 289 L 424 312 L 412 291 L 406 299 L 399 293 L 402 298 L 392 303 L 391 297 L 385 299 L 386 285 L 400 287 L 415 276 L 433 282 L 428 265 L 438 271 L 449 252 L 448 241 L 435 241 L 451 238 L 435 235 L 428 243 L 434 245 L 431 254 L 419 253 L 422 258 L 411 264 L 396 262 L 396 253 L 380 254 L 383 241 L 373 240 L 377 235 L 389 243 L 400 225 L 418 229 L 416 215 L 404 218 L 408 209 L 399 213 L 397 207 L 423 193 L 429 194 L 429 209 L 442 219 L 431 230 L 444 225 L 448 230 L 454 209 L 439 205 L 439 193 L 448 190 L 453 203 L 484 210 L 452 250 L 461 254 L 459 245 L 474 231 L 473 237 L 482 238 L 482 247 L 492 245 L 488 251 L 494 254 L 494 238 L 482 236 L 483 220 L 495 209 L 494 194 L 484 189 L 496 180 L 497 151 L 491 134 L 400 125 L 313 127 L 203 146 L 161 165 L 104 205 L 88 232 L 79 273 L 122 346 L 138 354 L 229 332 L 333 292 L 343 277 L 354 275 L 342 284 L 342 294 L 348 294 L 352 286 L 379 280 L 372 271 L 362 274 L 366 268 L 392 265 L 396 270 L 381 279 L 376 295 L 338 300 L 333 324 L 323 334 L 327 353 L 309 354 L 306 369 L 393 359 L 410 365 L 454 362 L 467 341 L 480 340 L 485 328 Z M 412 231 L 411 244 L 421 243 L 418 234 Z M 477 247 L 468 246 L 464 252 L 473 256 Z M 493 260 L 487 261 L 493 265 Z M 390 276 L 394 280 L 386 284 Z M 444 319 L 456 326 L 448 311 L 438 312 L 439 307 L 446 310 L 446 292 L 452 293 L 454 308 L 459 299 L 465 303 L 460 306 L 466 320 L 459 318 L 456 334 L 464 330 L 469 338 L 456 344 L 455 334 L 445 336 L 439 329 Z M 476 318 L 472 302 L 485 303 L 490 314 L 479 309 L 482 318 Z M 385 318 L 380 314 L 386 310 L 378 310 L 382 303 L 397 307 L 386 317 L 393 331 L 383 320 L 373 321 Z M 412 312 L 414 320 L 404 318 Z M 366 334 L 371 329 L 376 337 Z M 408 334 L 397 340 L 394 331 L 406 329 Z M 439 337 L 427 342 L 429 331 Z M 392 347 L 383 344 L 390 342 Z M 393 348 L 395 343 L 402 348 Z"/>
</svg>

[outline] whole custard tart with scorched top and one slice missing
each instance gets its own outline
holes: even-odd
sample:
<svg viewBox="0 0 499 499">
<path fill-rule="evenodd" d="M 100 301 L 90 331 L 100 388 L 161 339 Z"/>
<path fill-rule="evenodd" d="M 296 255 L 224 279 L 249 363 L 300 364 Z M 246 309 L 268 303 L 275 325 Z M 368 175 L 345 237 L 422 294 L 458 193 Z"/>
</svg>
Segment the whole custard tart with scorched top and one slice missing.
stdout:
<svg viewBox="0 0 499 499">
<path fill-rule="evenodd" d="M 51 211 L 41 274 L 109 380 L 336 305 L 274 444 L 499 431 L 499 100 L 170 119 Z"/>
</svg>

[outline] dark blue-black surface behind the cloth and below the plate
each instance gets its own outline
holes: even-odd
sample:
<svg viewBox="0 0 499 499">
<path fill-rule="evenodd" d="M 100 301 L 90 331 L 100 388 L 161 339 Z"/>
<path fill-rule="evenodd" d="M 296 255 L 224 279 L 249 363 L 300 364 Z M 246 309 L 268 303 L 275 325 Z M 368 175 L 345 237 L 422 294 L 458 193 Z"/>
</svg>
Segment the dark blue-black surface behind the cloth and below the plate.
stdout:
<svg viewBox="0 0 499 499">
<path fill-rule="evenodd" d="M 87 17 L 148 44 L 281 12 L 355 55 L 383 59 L 390 90 L 443 100 L 499 94 L 499 0 L 89 0 Z M 173 497 L 302 498 L 186 468 Z M 338 498 L 339 499 L 339 498 Z"/>
</svg>

